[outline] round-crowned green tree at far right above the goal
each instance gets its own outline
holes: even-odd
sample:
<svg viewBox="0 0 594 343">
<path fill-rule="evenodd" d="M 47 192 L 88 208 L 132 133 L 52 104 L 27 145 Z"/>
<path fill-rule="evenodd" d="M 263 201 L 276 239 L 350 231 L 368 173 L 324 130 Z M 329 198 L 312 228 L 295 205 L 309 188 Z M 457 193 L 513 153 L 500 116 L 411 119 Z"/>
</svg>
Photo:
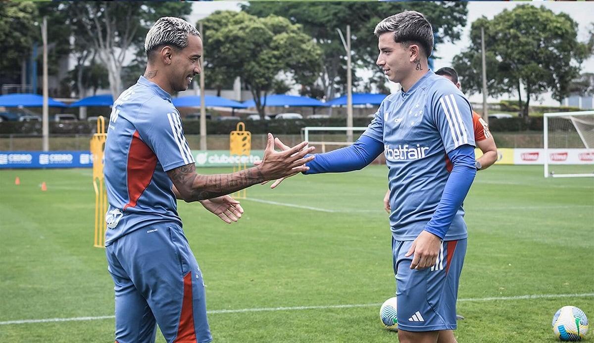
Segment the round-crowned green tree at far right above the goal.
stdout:
<svg viewBox="0 0 594 343">
<path fill-rule="evenodd" d="M 588 55 L 586 44 L 577 41 L 577 23 L 569 15 L 519 5 L 504 9 L 492 20 L 482 17 L 472 23 L 470 47 L 453 62 L 470 94 L 482 91 L 481 28 L 485 31 L 489 94 L 517 92 L 525 116 L 530 100 L 546 91 L 557 101 L 568 96 L 571 80 L 579 75 Z"/>
</svg>

